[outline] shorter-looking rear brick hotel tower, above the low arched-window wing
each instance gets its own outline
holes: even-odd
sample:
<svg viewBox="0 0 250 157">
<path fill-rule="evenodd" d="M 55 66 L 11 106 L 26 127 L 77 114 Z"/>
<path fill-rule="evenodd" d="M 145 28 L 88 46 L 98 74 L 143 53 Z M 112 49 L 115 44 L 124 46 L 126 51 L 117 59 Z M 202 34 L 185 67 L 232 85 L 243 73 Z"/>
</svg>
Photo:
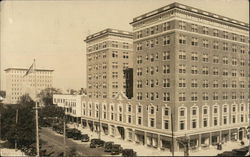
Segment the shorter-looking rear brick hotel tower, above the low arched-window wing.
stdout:
<svg viewBox="0 0 250 157">
<path fill-rule="evenodd" d="M 87 91 L 91 98 L 113 98 L 125 93 L 123 69 L 132 68 L 132 33 L 105 29 L 88 36 Z"/>
</svg>

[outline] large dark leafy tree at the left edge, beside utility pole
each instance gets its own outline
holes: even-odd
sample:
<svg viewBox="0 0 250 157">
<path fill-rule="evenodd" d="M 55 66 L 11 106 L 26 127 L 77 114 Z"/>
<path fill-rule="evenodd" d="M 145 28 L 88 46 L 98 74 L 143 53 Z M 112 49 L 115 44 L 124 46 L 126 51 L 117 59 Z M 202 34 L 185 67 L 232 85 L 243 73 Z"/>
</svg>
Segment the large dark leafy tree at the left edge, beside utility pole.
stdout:
<svg viewBox="0 0 250 157">
<path fill-rule="evenodd" d="M 2 137 L 8 140 L 11 147 L 14 147 L 15 141 L 18 148 L 27 148 L 35 142 L 34 105 L 34 101 L 24 95 L 17 105 L 9 105 L 1 112 Z"/>
</svg>

